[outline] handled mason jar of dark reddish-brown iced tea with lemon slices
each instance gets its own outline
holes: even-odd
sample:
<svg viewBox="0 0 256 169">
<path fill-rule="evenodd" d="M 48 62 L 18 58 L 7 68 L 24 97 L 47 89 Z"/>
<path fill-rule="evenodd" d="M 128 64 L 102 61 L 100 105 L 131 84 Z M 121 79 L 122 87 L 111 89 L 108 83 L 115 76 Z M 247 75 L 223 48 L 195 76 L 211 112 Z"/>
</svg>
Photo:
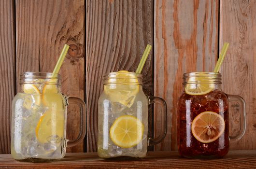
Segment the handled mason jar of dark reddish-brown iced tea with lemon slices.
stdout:
<svg viewBox="0 0 256 169">
<path fill-rule="evenodd" d="M 178 150 L 188 158 L 220 158 L 228 153 L 229 140 L 238 141 L 245 133 L 245 102 L 240 96 L 221 90 L 217 72 L 185 73 L 184 91 L 178 101 Z M 229 136 L 232 105 L 240 109 L 240 131 Z"/>
</svg>

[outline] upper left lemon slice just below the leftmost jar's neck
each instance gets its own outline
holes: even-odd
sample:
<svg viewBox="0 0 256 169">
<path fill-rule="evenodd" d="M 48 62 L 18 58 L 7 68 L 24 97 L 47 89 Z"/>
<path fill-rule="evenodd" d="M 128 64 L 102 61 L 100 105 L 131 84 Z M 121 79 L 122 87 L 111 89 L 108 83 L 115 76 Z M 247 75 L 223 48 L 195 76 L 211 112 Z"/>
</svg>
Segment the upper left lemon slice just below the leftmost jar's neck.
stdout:
<svg viewBox="0 0 256 169">
<path fill-rule="evenodd" d="M 33 97 L 33 99 L 30 97 L 29 98 L 25 97 L 23 106 L 26 109 L 28 110 L 32 109 L 33 100 L 34 100 L 34 104 L 40 105 L 41 103 L 40 91 L 34 84 L 23 84 L 23 90 L 24 90 L 24 93 L 31 94 L 31 96 Z"/>
</svg>

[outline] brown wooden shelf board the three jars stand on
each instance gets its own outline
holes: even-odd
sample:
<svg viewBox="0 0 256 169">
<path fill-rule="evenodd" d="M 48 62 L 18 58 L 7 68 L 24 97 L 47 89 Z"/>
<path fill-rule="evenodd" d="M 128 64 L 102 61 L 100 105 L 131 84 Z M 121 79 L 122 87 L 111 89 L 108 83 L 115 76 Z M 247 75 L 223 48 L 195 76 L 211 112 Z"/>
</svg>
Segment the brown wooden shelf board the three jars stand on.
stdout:
<svg viewBox="0 0 256 169">
<path fill-rule="evenodd" d="M 0 155 L 0 168 L 38 169 L 255 169 L 256 150 L 230 151 L 221 159 L 198 160 L 182 158 L 177 151 L 149 152 L 147 157 L 132 161 L 104 160 L 97 153 L 67 153 L 65 158 L 49 163 L 28 163 L 15 161 L 11 155 Z"/>
</svg>

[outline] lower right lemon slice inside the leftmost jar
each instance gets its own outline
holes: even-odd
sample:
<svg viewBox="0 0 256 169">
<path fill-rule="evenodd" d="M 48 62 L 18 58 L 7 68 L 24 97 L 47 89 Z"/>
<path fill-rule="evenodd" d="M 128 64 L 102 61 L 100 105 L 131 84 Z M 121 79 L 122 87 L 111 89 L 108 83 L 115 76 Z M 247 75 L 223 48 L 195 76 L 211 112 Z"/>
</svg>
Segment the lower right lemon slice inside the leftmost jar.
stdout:
<svg viewBox="0 0 256 169">
<path fill-rule="evenodd" d="M 41 143 L 59 142 L 64 133 L 64 114 L 62 112 L 45 112 L 37 126 L 36 138 Z"/>
</svg>

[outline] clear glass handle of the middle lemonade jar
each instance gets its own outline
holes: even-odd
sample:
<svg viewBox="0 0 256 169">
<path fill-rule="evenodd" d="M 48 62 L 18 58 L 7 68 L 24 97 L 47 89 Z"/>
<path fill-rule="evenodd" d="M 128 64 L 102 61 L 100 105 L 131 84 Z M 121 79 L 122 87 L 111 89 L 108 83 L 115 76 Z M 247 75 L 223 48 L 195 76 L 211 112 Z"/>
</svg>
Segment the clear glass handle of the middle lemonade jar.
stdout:
<svg viewBox="0 0 256 169">
<path fill-rule="evenodd" d="M 158 97 L 154 97 L 154 96 L 148 96 L 148 100 L 149 100 L 149 104 L 152 103 L 159 103 L 162 105 L 163 107 L 163 111 L 162 111 L 162 129 L 161 129 L 161 133 L 158 137 L 156 137 L 155 139 L 152 138 L 148 138 L 148 146 L 150 145 L 155 145 L 158 144 L 159 142 L 161 142 L 165 136 L 166 136 L 166 132 L 167 132 L 167 106 L 166 106 L 166 102 L 164 99 L 162 98 L 158 98 Z"/>
</svg>

